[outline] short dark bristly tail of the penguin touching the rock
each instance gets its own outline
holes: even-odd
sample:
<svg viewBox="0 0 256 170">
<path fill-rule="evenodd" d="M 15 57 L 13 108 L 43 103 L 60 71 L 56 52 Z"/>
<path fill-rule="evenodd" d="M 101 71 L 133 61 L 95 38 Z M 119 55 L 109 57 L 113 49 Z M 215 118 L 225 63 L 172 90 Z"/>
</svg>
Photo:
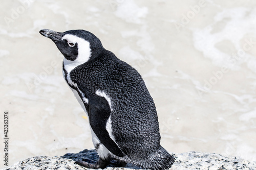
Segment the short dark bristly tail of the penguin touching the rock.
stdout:
<svg viewBox="0 0 256 170">
<path fill-rule="evenodd" d="M 152 170 L 169 169 L 174 161 L 175 158 L 160 145 L 160 148 L 156 152 L 148 155 L 147 162 L 143 168 Z"/>
</svg>

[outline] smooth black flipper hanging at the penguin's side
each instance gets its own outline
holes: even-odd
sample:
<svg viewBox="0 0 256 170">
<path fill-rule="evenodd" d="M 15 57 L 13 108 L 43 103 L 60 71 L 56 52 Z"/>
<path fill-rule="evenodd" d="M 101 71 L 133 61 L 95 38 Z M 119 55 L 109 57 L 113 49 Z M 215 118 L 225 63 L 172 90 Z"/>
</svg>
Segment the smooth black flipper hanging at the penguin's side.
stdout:
<svg viewBox="0 0 256 170">
<path fill-rule="evenodd" d="M 102 96 L 89 92 L 83 85 L 79 84 L 77 86 L 88 98 L 89 122 L 95 135 L 112 154 L 118 157 L 123 157 L 121 149 L 106 130 L 106 123 L 108 122 L 111 114 L 108 101 Z"/>
</svg>

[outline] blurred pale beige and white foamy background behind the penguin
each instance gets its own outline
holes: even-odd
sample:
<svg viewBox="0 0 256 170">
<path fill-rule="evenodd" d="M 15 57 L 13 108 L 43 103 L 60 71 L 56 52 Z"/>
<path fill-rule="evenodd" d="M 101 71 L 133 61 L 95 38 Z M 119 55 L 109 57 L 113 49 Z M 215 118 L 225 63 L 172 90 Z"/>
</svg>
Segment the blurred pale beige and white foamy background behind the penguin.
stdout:
<svg viewBox="0 0 256 170">
<path fill-rule="evenodd" d="M 90 31 L 135 67 L 167 151 L 256 160 L 256 1 L 13 0 L 0 8 L 0 136 L 8 111 L 9 165 L 93 148 L 86 114 L 62 78 L 63 57 L 38 33 L 44 28 Z"/>
</svg>

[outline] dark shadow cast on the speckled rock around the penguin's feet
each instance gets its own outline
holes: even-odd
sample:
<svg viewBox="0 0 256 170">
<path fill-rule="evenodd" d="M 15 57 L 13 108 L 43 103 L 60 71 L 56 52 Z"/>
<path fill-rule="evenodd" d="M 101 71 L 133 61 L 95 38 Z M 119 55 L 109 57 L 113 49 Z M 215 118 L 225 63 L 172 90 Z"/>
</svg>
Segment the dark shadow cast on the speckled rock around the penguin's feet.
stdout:
<svg viewBox="0 0 256 170">
<path fill-rule="evenodd" d="M 95 163 L 99 159 L 99 156 L 95 150 L 87 150 L 87 149 L 79 153 L 67 153 L 61 157 L 66 159 L 72 159 L 73 161 L 83 160 L 89 163 Z M 117 161 L 111 160 L 110 164 L 107 167 L 117 167 L 116 166 L 117 164 L 118 164 Z M 141 169 L 140 167 L 135 166 L 131 163 L 127 163 L 125 168 Z"/>
</svg>

